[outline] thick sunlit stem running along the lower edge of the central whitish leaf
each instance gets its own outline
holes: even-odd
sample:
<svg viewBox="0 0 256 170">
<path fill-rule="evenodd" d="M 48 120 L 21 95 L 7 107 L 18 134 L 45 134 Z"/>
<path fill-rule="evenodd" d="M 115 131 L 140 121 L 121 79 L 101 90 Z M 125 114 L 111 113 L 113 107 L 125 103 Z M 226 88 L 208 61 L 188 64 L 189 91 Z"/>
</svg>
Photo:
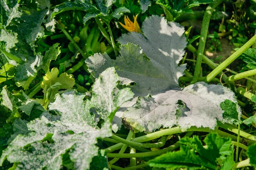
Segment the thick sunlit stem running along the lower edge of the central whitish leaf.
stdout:
<svg viewBox="0 0 256 170">
<path fill-rule="evenodd" d="M 210 130 L 209 128 L 204 128 L 204 127 L 190 127 L 187 131 L 199 131 L 199 132 L 214 132 L 214 130 Z M 140 136 L 134 139 L 131 139 L 132 142 L 146 142 L 146 141 L 151 141 L 157 138 L 160 138 L 162 136 L 165 135 L 172 135 L 175 133 L 182 133 L 183 131 L 180 130 L 179 127 L 172 127 L 172 128 L 168 128 L 168 129 L 164 129 L 164 130 L 159 130 L 157 132 L 154 133 L 150 133 L 144 136 Z M 105 149 L 106 153 L 111 153 L 114 150 L 118 150 L 122 147 L 122 143 L 119 144 L 115 144 L 111 147 L 108 147 Z"/>
</svg>

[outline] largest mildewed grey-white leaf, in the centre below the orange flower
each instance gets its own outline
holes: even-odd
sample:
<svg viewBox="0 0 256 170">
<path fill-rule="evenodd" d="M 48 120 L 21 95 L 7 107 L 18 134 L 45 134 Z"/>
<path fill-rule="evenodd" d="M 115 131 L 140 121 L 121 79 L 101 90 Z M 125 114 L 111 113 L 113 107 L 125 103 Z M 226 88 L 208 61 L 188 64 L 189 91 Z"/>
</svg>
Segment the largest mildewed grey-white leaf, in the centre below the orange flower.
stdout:
<svg viewBox="0 0 256 170">
<path fill-rule="evenodd" d="M 119 38 L 122 45 L 116 60 L 108 54 L 94 54 L 86 60 L 95 77 L 114 66 L 121 83 L 139 97 L 121 106 L 114 125 L 120 127 L 121 119 L 117 117 L 122 117 L 122 122 L 135 132 L 151 133 L 161 126 L 174 125 L 182 130 L 191 126 L 214 129 L 217 120 L 233 123 L 240 119 L 241 111 L 230 89 L 204 82 L 178 87 L 178 78 L 186 69 L 186 65 L 178 65 L 186 47 L 184 28 L 151 16 L 144 21 L 142 31 L 144 35 L 131 32 Z M 225 100 L 234 103 L 236 115 L 223 115 L 221 103 Z"/>
</svg>

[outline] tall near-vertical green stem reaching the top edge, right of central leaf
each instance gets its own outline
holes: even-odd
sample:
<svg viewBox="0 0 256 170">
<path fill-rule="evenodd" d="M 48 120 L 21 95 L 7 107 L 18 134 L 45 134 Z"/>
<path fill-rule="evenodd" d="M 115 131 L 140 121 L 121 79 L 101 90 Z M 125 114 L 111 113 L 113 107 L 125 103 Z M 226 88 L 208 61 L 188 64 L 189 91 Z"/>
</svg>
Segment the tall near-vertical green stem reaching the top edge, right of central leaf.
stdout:
<svg viewBox="0 0 256 170">
<path fill-rule="evenodd" d="M 201 63 L 202 63 L 202 55 L 204 55 L 204 48 L 206 44 L 207 33 L 208 33 L 212 12 L 221 2 L 222 0 L 216 0 L 213 3 L 210 3 L 210 5 L 207 6 L 206 11 L 204 13 L 204 18 L 203 18 L 202 27 L 201 27 L 201 34 L 199 39 L 198 54 L 197 54 L 196 65 L 195 65 L 195 72 L 194 72 L 194 77 L 191 84 L 195 84 L 198 80 Z"/>
</svg>

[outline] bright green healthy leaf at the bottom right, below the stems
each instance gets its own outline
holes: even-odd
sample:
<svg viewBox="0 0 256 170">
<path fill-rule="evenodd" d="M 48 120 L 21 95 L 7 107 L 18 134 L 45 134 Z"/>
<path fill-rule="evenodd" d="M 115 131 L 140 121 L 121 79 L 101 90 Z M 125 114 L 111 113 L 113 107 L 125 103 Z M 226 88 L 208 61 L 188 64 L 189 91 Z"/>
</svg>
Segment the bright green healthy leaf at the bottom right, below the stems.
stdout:
<svg viewBox="0 0 256 170">
<path fill-rule="evenodd" d="M 218 161 L 221 160 L 223 166 L 225 165 L 225 170 L 233 169 L 233 149 L 230 147 L 230 138 L 222 138 L 216 133 L 210 133 L 204 139 L 204 142 L 207 144 L 207 148 L 203 147 L 198 136 L 183 138 L 179 141 L 181 143 L 179 151 L 158 156 L 148 161 L 148 164 L 151 167 L 217 170 Z M 230 158 L 232 162 L 230 162 Z"/>
</svg>

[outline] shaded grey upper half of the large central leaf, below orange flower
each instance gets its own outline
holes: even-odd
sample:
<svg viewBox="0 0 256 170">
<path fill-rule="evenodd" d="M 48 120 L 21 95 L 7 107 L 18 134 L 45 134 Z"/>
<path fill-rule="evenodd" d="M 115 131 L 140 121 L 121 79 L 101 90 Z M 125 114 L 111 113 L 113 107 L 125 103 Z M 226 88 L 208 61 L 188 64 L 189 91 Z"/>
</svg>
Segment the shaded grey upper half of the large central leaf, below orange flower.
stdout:
<svg viewBox="0 0 256 170">
<path fill-rule="evenodd" d="M 111 60 L 107 54 L 89 57 L 86 60 L 89 71 L 97 77 L 105 68 L 115 66 L 123 84 L 136 83 L 132 90 L 137 96 L 177 88 L 178 78 L 186 68 L 186 65 L 177 66 L 185 53 L 184 28 L 176 23 L 168 24 L 163 17 L 151 16 L 143 22 L 142 31 L 145 37 L 131 32 L 118 39 L 123 46 L 116 60 Z M 135 45 L 126 45 L 128 42 Z M 142 50 L 147 57 L 143 57 Z"/>
</svg>

